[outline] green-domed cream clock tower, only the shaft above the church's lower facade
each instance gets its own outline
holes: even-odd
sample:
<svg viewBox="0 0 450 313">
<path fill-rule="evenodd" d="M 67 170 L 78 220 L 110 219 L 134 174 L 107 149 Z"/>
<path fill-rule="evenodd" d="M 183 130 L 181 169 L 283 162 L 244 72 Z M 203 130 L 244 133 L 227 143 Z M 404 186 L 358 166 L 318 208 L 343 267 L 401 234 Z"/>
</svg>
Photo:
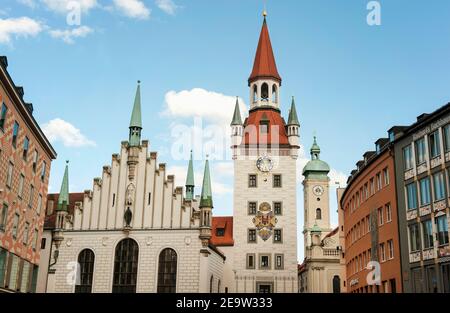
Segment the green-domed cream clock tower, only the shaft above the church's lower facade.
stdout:
<svg viewBox="0 0 450 313">
<path fill-rule="evenodd" d="M 311 147 L 311 160 L 303 168 L 304 191 L 304 240 L 305 249 L 314 243 L 314 238 L 326 236 L 330 228 L 330 172 L 329 165 L 320 159 L 320 147 L 317 138 Z"/>
</svg>

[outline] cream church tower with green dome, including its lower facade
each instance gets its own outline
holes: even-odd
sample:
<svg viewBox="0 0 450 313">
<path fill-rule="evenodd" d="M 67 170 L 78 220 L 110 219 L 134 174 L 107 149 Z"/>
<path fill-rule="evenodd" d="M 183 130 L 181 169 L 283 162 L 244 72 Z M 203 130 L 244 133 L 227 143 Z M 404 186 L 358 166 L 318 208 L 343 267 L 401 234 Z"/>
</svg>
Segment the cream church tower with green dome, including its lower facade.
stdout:
<svg viewBox="0 0 450 313">
<path fill-rule="evenodd" d="M 339 228 L 330 225 L 330 167 L 320 159 L 314 137 L 311 160 L 303 168 L 305 260 L 299 267 L 299 292 L 340 293 L 344 267 L 340 263 Z"/>
</svg>

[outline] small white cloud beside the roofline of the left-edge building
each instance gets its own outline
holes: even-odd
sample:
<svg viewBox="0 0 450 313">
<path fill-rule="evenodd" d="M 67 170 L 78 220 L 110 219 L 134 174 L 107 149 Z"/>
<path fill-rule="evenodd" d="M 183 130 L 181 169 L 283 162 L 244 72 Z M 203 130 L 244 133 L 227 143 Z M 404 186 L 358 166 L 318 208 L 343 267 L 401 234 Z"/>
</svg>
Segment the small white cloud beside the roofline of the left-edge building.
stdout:
<svg viewBox="0 0 450 313">
<path fill-rule="evenodd" d="M 60 141 L 65 147 L 77 148 L 96 145 L 95 142 L 86 138 L 78 128 L 60 118 L 42 125 L 42 130 L 51 143 Z"/>
</svg>

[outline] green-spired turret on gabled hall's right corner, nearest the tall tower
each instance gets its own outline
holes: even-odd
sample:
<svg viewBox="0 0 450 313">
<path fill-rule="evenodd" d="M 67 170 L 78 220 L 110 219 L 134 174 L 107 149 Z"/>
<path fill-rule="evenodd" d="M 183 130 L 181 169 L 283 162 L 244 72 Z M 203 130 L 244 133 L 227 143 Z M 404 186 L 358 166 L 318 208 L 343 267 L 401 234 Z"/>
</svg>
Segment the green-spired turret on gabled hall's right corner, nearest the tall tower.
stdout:
<svg viewBox="0 0 450 313">
<path fill-rule="evenodd" d="M 211 221 L 212 221 L 212 191 L 211 176 L 209 174 L 209 161 L 205 163 L 205 173 L 203 175 L 202 194 L 200 196 L 200 240 L 204 248 L 208 247 L 211 239 Z"/>
</svg>

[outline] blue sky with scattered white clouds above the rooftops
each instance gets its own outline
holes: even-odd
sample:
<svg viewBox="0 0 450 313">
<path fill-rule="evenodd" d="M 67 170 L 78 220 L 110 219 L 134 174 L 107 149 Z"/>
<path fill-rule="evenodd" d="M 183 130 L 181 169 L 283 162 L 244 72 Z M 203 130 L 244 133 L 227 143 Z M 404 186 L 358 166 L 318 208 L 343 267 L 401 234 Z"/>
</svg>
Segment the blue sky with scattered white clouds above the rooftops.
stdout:
<svg viewBox="0 0 450 313">
<path fill-rule="evenodd" d="M 77 1 L 84 7 L 81 25 L 74 26 L 55 0 L 2 0 L 0 6 L 0 52 L 38 122 L 53 129 L 58 159 L 51 192 L 59 189 L 66 159 L 71 191 L 92 187 L 128 137 L 138 79 L 143 138 L 160 162 L 183 175 L 187 162 L 171 155 L 177 140 L 171 128 L 192 125 L 194 116 L 204 125 L 226 125 L 232 97 L 248 103 L 263 1 Z M 410 124 L 450 101 L 450 2 L 379 1 L 380 26 L 367 24 L 368 3 L 267 2 L 283 114 L 296 96 L 301 143 L 309 149 L 317 133 L 333 180 L 345 181 L 392 125 Z M 65 131 L 54 133 L 58 127 Z M 230 163 L 212 166 L 216 215 L 231 214 Z M 197 160 L 199 185 L 202 168 Z M 302 227 L 301 185 L 298 194 Z M 301 258 L 303 247 L 299 252 Z"/>
</svg>

